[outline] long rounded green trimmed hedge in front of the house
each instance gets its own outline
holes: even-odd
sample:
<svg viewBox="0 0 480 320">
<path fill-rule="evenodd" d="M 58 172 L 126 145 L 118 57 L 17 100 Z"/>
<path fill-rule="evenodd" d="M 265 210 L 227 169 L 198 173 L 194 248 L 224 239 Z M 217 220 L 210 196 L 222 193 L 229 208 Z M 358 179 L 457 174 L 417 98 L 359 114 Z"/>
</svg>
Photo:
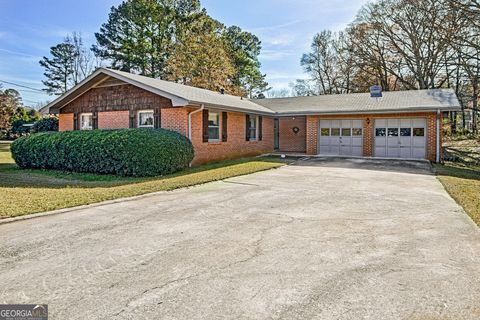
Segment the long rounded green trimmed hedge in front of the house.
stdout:
<svg viewBox="0 0 480 320">
<path fill-rule="evenodd" d="M 188 167 L 193 146 L 164 129 L 43 132 L 15 140 L 12 155 L 21 168 L 156 176 Z"/>
</svg>

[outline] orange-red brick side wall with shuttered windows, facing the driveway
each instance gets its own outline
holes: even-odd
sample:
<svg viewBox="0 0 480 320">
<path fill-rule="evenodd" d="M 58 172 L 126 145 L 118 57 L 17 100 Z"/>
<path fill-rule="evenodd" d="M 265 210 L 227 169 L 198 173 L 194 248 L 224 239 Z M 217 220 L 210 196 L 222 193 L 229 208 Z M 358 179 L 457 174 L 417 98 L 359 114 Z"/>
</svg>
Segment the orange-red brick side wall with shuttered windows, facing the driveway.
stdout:
<svg viewBox="0 0 480 320">
<path fill-rule="evenodd" d="M 192 143 L 195 147 L 193 164 L 273 152 L 273 118 L 263 117 L 262 128 L 262 141 L 245 141 L 245 114 L 229 112 L 228 141 L 203 142 L 202 113 L 192 115 Z"/>
</svg>

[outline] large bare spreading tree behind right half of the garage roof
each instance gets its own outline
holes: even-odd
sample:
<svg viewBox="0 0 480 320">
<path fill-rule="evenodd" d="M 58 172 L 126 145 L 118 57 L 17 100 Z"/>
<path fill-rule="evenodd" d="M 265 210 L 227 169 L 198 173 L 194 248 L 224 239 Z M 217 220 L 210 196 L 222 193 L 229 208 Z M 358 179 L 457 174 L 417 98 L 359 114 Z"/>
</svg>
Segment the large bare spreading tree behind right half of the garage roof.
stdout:
<svg viewBox="0 0 480 320">
<path fill-rule="evenodd" d="M 445 57 L 452 59 L 456 27 L 448 0 L 383 0 L 367 14 L 387 52 L 395 57 L 386 63 L 388 73 L 409 89 L 444 85 Z"/>
</svg>

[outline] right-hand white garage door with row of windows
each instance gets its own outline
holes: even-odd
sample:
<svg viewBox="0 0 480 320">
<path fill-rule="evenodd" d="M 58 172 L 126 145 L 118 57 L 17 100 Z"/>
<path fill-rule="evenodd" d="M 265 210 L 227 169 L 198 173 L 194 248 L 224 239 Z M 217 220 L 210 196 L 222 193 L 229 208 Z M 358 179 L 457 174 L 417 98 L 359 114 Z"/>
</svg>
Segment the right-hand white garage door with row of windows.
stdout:
<svg viewBox="0 0 480 320">
<path fill-rule="evenodd" d="M 425 119 L 375 120 L 376 157 L 425 159 Z"/>
</svg>

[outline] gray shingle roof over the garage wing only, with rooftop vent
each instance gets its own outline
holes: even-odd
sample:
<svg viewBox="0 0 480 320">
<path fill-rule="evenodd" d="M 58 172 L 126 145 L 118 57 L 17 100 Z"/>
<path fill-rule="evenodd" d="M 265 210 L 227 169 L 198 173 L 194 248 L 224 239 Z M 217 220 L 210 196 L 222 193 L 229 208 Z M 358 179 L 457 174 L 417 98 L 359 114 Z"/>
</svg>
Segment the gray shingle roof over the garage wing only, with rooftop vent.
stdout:
<svg viewBox="0 0 480 320">
<path fill-rule="evenodd" d="M 457 110 L 460 103 L 451 89 L 384 92 L 376 100 L 370 93 L 256 99 L 253 102 L 279 114 L 328 114 Z"/>
</svg>

